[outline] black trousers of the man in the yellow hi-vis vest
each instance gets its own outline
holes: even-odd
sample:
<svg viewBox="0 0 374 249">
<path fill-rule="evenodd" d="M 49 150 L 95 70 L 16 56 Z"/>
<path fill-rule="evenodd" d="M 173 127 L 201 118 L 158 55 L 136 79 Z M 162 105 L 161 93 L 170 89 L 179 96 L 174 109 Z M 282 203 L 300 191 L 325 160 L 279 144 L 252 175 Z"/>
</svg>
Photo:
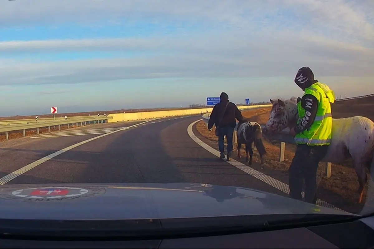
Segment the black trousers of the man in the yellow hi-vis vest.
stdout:
<svg viewBox="0 0 374 249">
<path fill-rule="evenodd" d="M 302 200 L 303 180 L 305 181 L 305 201 L 315 204 L 317 190 L 318 163 L 327 153 L 328 145 L 309 146 L 298 144 L 295 156 L 289 166 L 289 195 Z"/>
</svg>

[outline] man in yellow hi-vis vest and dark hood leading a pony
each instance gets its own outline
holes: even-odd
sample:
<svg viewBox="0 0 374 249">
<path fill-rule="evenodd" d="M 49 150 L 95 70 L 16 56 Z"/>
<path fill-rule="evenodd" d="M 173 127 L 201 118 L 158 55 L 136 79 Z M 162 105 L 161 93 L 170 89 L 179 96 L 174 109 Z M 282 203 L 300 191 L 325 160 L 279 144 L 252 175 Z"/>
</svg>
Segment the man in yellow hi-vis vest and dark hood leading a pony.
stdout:
<svg viewBox="0 0 374 249">
<path fill-rule="evenodd" d="M 331 141 L 331 103 L 334 91 L 314 79 L 310 68 L 300 68 L 295 83 L 304 91 L 297 103 L 299 120 L 290 134 L 295 137 L 297 149 L 289 167 L 289 194 L 301 200 L 303 180 L 305 201 L 316 203 L 318 163 L 327 153 Z"/>
</svg>

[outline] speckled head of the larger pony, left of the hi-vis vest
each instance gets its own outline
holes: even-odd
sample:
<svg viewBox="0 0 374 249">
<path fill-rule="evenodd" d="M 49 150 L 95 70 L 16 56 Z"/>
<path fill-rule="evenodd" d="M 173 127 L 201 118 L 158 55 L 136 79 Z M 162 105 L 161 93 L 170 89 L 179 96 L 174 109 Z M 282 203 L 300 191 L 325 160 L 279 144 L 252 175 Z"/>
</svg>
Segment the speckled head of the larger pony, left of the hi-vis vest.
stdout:
<svg viewBox="0 0 374 249">
<path fill-rule="evenodd" d="M 267 136 L 272 136 L 281 132 L 283 129 L 296 124 L 297 121 L 297 106 L 291 100 L 272 100 L 272 110 L 270 111 L 269 120 L 263 129 L 263 133 Z"/>
</svg>

